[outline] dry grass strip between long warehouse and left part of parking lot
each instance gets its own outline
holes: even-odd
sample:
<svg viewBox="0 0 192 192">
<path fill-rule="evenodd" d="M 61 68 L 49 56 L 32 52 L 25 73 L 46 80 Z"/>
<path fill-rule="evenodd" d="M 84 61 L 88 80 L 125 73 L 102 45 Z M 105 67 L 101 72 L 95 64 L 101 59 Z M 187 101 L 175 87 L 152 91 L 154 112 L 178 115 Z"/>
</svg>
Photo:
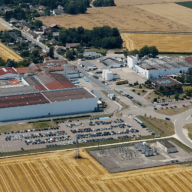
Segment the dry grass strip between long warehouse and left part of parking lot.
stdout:
<svg viewBox="0 0 192 192">
<path fill-rule="evenodd" d="M 0 126 L 0 132 L 7 131 L 18 131 L 18 130 L 28 130 L 44 127 L 56 127 L 57 124 L 54 121 L 44 121 L 44 122 L 34 122 L 34 123 L 23 123 L 23 124 L 9 124 Z"/>
</svg>

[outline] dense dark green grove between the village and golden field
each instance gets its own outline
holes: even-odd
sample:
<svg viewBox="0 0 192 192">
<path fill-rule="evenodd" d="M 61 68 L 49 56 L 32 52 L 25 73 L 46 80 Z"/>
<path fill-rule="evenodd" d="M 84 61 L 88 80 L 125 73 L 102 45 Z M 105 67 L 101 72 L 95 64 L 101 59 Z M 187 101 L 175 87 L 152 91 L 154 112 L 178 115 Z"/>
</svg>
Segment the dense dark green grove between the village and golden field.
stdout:
<svg viewBox="0 0 192 192">
<path fill-rule="evenodd" d="M 52 32 L 49 32 L 47 36 L 51 39 Z M 81 46 L 105 49 L 121 48 L 123 43 L 119 30 L 109 26 L 94 27 L 92 30 L 83 27 L 62 29 L 56 40 L 59 45 L 63 46 L 66 43 L 80 43 Z"/>
</svg>

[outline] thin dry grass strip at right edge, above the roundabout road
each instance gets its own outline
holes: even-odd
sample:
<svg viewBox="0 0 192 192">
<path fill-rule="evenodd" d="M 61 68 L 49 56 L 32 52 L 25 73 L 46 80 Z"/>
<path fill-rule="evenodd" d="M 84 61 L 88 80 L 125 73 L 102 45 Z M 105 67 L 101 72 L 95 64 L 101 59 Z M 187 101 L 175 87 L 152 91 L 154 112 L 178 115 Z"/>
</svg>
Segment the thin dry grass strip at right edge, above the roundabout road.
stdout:
<svg viewBox="0 0 192 192">
<path fill-rule="evenodd" d="M 189 105 L 188 107 L 181 107 L 181 108 L 174 108 L 174 109 L 159 109 L 159 110 L 154 110 L 156 113 L 160 113 L 163 115 L 177 115 L 179 113 L 183 113 L 189 109 L 192 108 L 192 105 Z"/>
</svg>

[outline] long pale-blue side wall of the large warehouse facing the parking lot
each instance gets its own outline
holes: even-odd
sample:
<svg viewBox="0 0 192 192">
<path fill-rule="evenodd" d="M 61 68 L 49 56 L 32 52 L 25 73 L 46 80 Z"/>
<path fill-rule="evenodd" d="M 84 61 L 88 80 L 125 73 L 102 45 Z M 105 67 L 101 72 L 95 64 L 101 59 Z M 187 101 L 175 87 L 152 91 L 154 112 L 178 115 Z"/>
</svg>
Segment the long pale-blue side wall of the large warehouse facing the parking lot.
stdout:
<svg viewBox="0 0 192 192">
<path fill-rule="evenodd" d="M 95 110 L 96 107 L 97 97 L 89 99 L 53 102 L 40 105 L 1 108 L 0 121 L 92 112 Z"/>
</svg>

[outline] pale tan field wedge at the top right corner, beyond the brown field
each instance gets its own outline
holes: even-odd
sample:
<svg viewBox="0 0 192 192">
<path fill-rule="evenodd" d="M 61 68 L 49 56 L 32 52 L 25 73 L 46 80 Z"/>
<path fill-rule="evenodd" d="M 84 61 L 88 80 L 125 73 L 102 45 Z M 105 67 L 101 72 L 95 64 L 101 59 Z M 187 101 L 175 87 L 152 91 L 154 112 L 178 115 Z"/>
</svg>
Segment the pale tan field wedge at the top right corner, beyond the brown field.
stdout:
<svg viewBox="0 0 192 192">
<path fill-rule="evenodd" d="M 150 13 L 157 14 L 173 22 L 177 22 L 178 24 L 184 25 L 188 28 L 191 28 L 192 26 L 192 9 L 186 8 L 184 6 L 180 6 L 175 3 L 167 3 L 138 5 L 137 7 Z"/>
</svg>

